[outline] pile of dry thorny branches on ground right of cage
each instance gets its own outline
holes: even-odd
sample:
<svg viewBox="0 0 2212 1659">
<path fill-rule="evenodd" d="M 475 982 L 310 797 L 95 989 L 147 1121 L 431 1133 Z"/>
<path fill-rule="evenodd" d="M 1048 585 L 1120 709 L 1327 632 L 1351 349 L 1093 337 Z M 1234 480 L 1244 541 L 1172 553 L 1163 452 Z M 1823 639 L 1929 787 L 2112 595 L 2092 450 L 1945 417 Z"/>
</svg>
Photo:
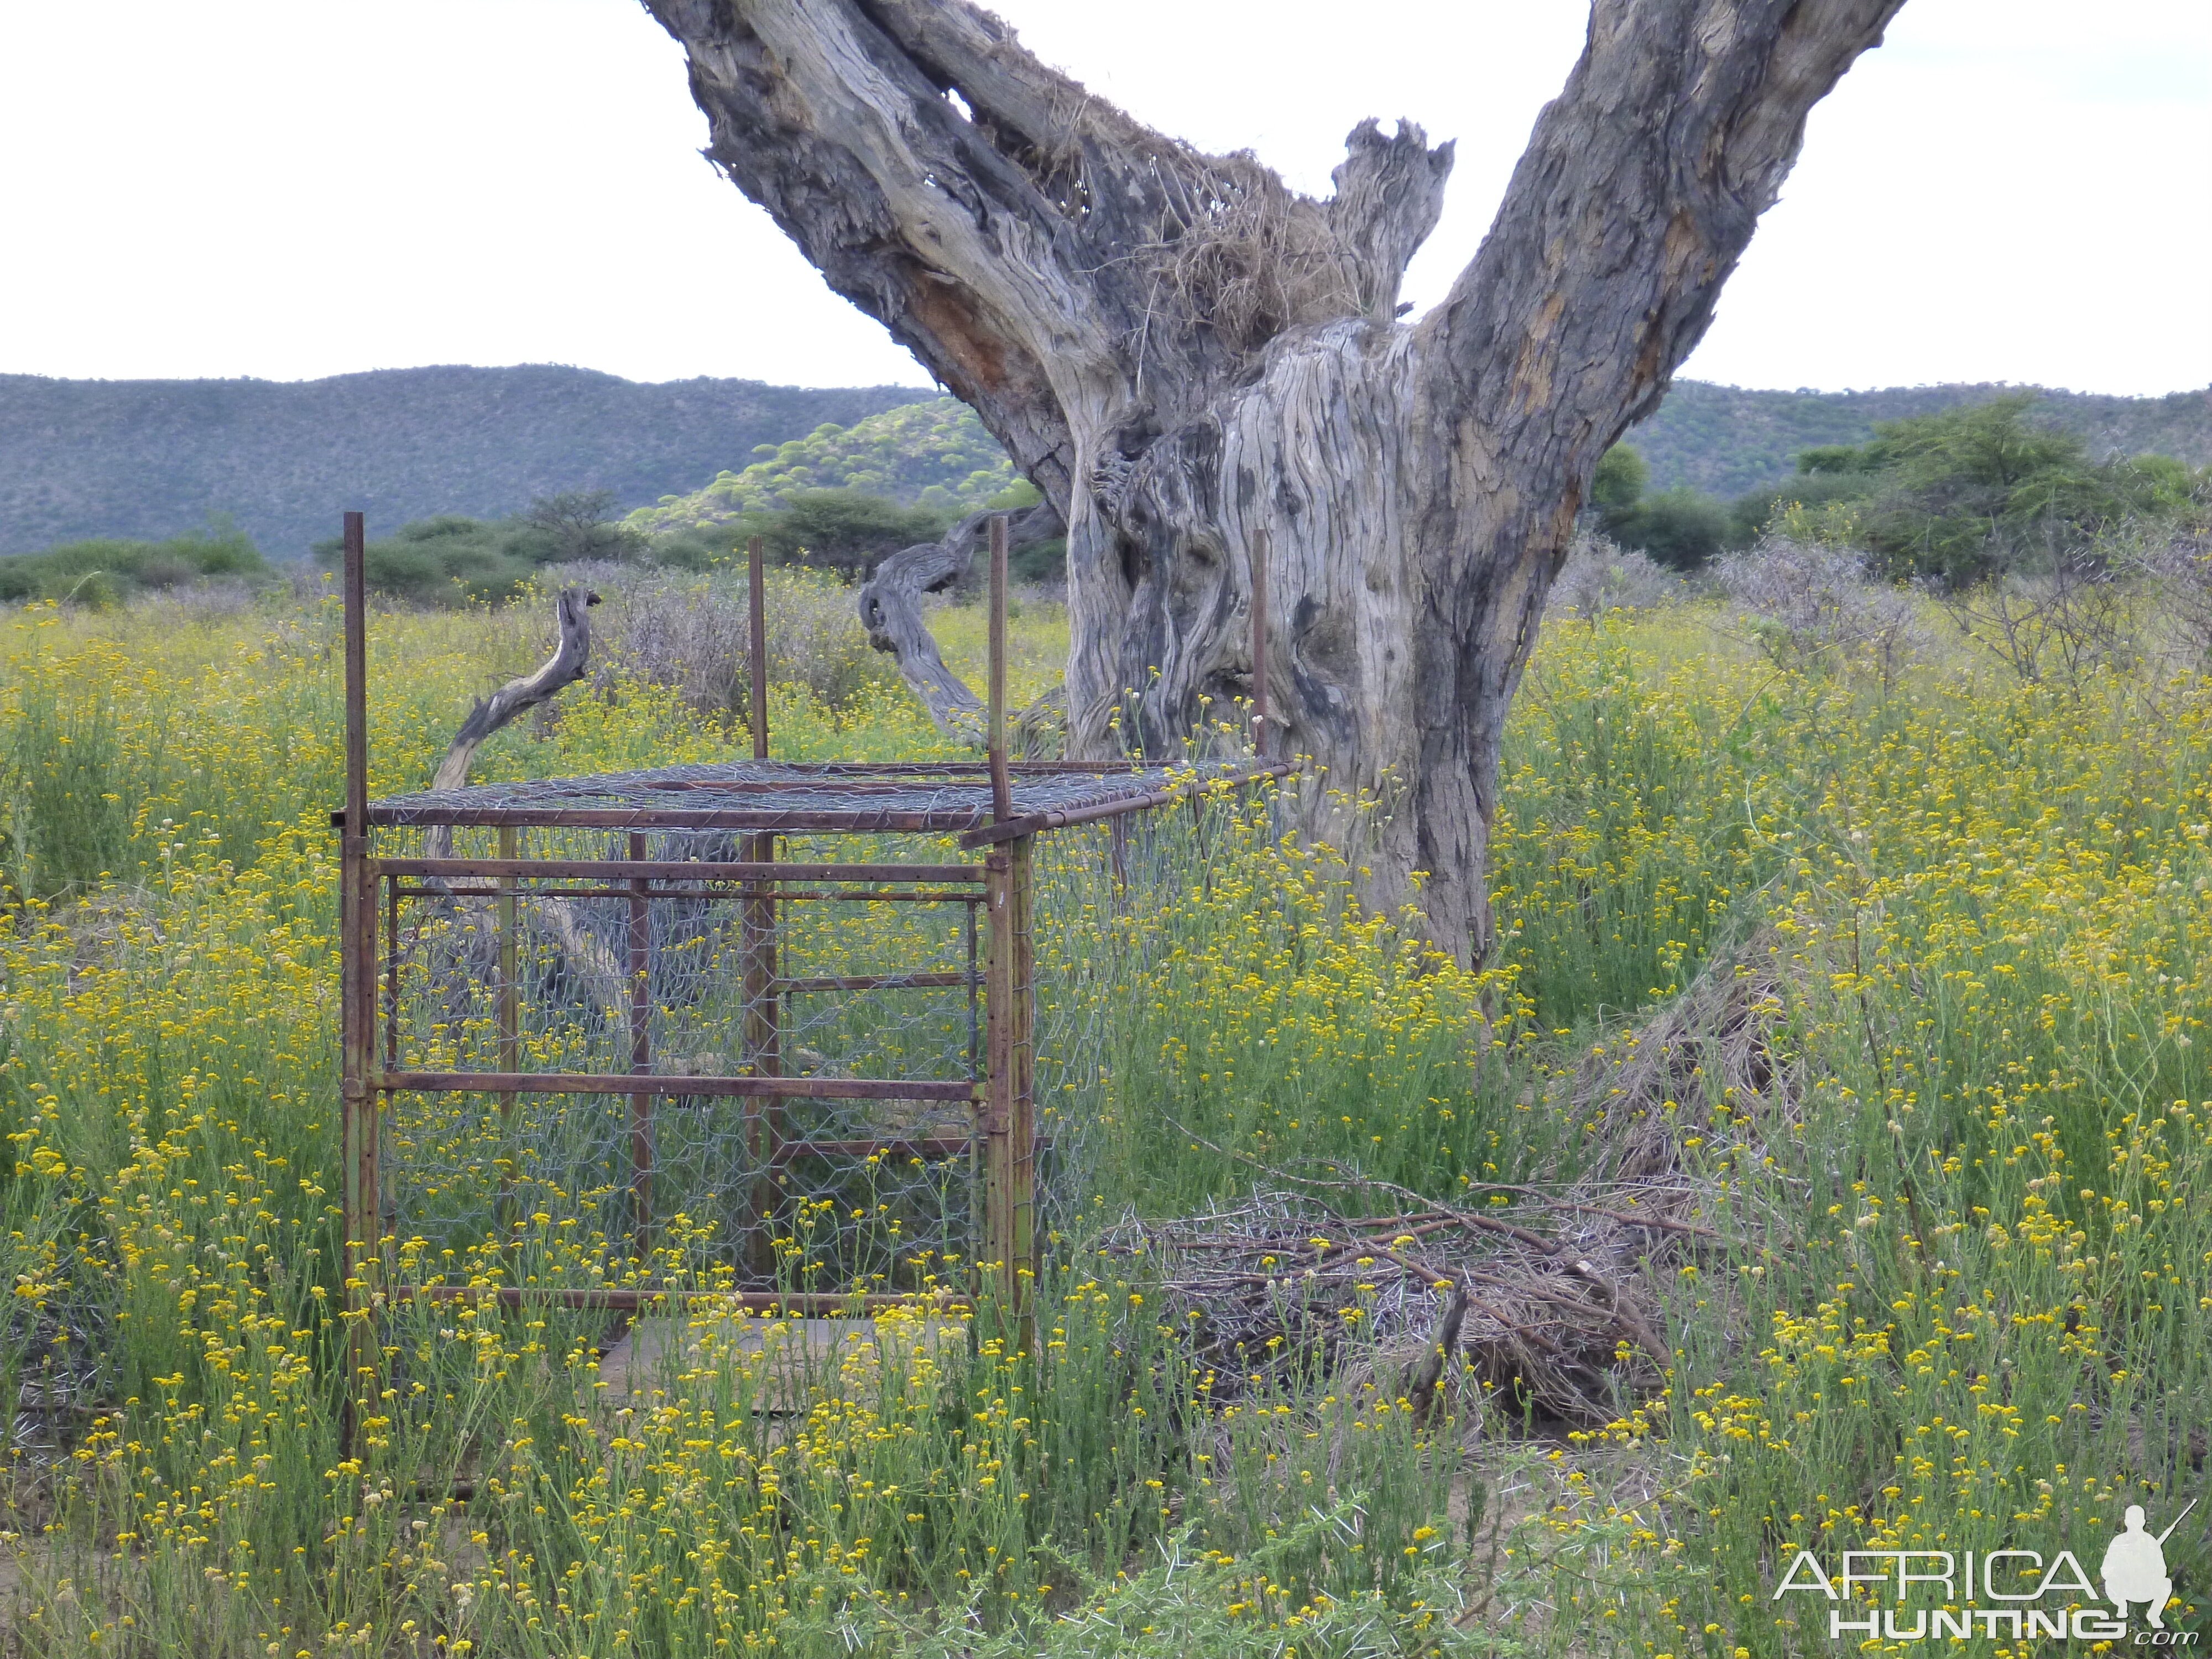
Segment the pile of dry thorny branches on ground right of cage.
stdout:
<svg viewBox="0 0 2212 1659">
<path fill-rule="evenodd" d="M 1672 1303 L 1694 1270 L 1787 1237 L 1719 1172 L 1759 1168 L 1763 1137 L 1796 1124 L 1794 1066 L 1770 1044 L 1781 1011 L 1759 942 L 1531 1088 L 1522 1106 L 1582 1126 L 1573 1181 L 1475 1183 L 1447 1203 L 1340 1164 L 1243 1159 L 1248 1199 L 1126 1219 L 1102 1248 L 1148 1263 L 1221 1396 L 1380 1365 L 1422 1411 L 1440 1389 L 1482 1389 L 1540 1422 L 1608 1422 L 1672 1365 Z"/>
</svg>

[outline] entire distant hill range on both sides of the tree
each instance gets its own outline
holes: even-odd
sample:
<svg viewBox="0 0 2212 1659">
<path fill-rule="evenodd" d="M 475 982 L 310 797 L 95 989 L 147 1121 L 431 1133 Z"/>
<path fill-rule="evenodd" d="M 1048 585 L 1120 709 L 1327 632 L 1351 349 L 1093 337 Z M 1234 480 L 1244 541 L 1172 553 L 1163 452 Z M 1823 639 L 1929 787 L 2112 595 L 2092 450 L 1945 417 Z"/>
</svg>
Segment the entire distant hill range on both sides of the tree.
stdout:
<svg viewBox="0 0 2212 1659">
<path fill-rule="evenodd" d="M 1809 445 L 1863 442 L 1876 420 L 1997 385 L 1743 392 L 1677 380 L 1630 434 L 1652 489 L 1739 495 Z M 867 416 L 931 405 L 889 422 Z M 2042 414 L 2097 451 L 2212 462 L 2201 392 L 2046 392 Z M 825 422 L 852 429 L 818 434 Z M 763 449 L 774 445 L 774 451 Z M 431 513 L 498 518 L 535 495 L 611 489 L 657 529 L 719 522 L 794 487 L 854 487 L 958 507 L 1004 478 L 971 414 L 916 387 L 641 385 L 613 374 L 378 369 L 330 380 L 46 380 L 0 374 L 0 553 L 91 535 L 161 540 L 230 513 L 294 557 L 361 507 L 383 533 Z M 675 498 L 675 500 L 670 500 Z"/>
</svg>

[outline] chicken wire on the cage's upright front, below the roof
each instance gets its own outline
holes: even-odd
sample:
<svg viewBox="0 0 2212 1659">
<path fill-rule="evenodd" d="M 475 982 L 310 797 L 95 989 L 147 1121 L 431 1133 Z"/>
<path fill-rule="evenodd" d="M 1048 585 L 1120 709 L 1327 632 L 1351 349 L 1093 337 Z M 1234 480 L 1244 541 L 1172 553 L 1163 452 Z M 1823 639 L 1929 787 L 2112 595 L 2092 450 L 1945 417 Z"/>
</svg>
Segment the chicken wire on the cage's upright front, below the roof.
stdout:
<svg viewBox="0 0 2212 1659">
<path fill-rule="evenodd" d="M 465 832 L 451 856 L 493 856 L 471 838 L 491 841 Z M 745 863 L 714 832 L 513 841 L 524 860 Z M 841 841 L 779 852 L 849 863 Z M 440 1086 L 389 1093 L 387 1232 L 469 1261 L 493 1239 L 568 1228 L 571 1267 L 588 1272 L 681 1217 L 768 1283 L 774 1239 L 834 1203 L 849 1225 L 814 1272 L 918 1287 L 936 1256 L 967 1256 L 980 902 L 980 883 L 389 880 L 380 1060 Z M 473 1075 L 653 1091 L 487 1093 Z M 732 1093 L 765 1077 L 792 1093 Z"/>
</svg>

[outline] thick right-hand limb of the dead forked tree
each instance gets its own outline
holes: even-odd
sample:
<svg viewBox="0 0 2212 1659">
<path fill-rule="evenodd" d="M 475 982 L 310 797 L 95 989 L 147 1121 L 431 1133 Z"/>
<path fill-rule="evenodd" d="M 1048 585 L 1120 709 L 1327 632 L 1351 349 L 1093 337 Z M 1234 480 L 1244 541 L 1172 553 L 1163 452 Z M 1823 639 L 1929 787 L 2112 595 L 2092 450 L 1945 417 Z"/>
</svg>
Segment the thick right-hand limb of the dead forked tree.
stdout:
<svg viewBox="0 0 2212 1659">
<path fill-rule="evenodd" d="M 1601 453 L 1657 407 L 1812 106 L 1902 4 L 1595 0 L 1491 232 L 1422 319 L 1433 374 L 1498 431 Z"/>
</svg>

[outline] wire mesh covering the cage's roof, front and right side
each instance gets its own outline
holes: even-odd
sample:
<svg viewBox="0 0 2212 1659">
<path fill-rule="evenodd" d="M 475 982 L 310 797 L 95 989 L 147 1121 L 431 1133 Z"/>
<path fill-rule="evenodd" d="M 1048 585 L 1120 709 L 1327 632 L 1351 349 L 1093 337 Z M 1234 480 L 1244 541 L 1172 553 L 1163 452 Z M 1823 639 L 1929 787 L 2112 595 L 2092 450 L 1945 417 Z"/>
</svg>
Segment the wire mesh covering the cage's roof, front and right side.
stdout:
<svg viewBox="0 0 2212 1659">
<path fill-rule="evenodd" d="M 703 772 L 378 803 L 374 856 L 403 874 L 385 874 L 378 900 L 376 1060 L 389 1082 L 422 1084 L 385 1093 L 380 1232 L 411 1276 L 628 1283 L 670 1237 L 761 1290 L 920 1292 L 971 1272 L 991 945 L 982 863 L 953 832 L 989 823 L 987 779 Z M 825 779 L 863 830 L 761 827 L 823 814 Z M 1190 781 L 1024 770 L 1015 810 Z M 1203 863 L 1230 810 L 1212 794 L 1033 843 L 1031 929 L 1009 975 L 1024 967 L 1033 1009 L 1040 1232 L 1095 1157 L 1115 984 L 1144 951 L 1126 922 Z M 657 823 L 670 814 L 686 823 Z M 741 827 L 714 827 L 732 814 Z M 562 816 L 593 821 L 542 823 Z M 425 858 L 507 874 L 405 874 Z M 774 880 L 670 869 L 763 858 L 783 867 Z M 575 1091 L 577 1077 L 606 1086 Z M 562 1086 L 515 1086 L 531 1079 Z"/>
</svg>

